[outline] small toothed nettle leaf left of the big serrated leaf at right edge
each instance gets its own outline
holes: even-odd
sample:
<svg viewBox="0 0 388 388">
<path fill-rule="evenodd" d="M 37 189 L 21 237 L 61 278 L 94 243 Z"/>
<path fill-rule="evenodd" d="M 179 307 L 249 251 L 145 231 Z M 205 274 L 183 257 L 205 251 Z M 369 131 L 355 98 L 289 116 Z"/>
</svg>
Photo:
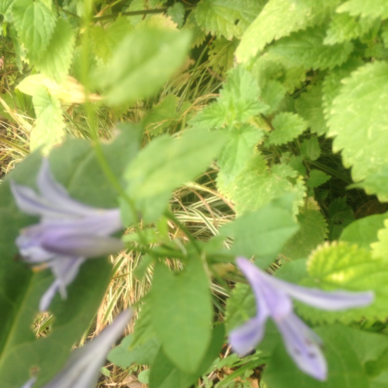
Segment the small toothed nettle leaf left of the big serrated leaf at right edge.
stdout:
<svg viewBox="0 0 388 388">
<path fill-rule="evenodd" d="M 307 122 L 301 116 L 291 112 L 276 114 L 272 120 L 274 130 L 269 134 L 266 144 L 281 146 L 296 139 L 307 129 Z"/>
</svg>

